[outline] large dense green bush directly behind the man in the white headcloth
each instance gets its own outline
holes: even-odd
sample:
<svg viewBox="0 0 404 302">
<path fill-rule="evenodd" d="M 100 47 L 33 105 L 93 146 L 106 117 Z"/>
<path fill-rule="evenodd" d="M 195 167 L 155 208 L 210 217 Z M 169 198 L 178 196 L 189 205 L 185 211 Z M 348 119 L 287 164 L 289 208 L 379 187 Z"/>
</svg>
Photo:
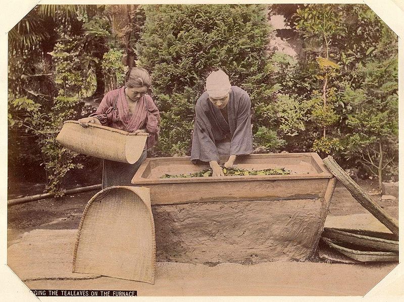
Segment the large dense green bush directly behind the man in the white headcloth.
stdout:
<svg viewBox="0 0 404 302">
<path fill-rule="evenodd" d="M 194 105 L 216 68 L 248 92 L 254 132 L 259 126 L 274 127 L 272 104 L 280 86 L 274 85 L 267 46 L 271 28 L 266 6 L 161 5 L 145 6 L 144 11 L 137 64 L 153 77 L 162 116 L 160 155 L 189 154 Z M 269 137 L 277 139 L 276 133 Z"/>
</svg>

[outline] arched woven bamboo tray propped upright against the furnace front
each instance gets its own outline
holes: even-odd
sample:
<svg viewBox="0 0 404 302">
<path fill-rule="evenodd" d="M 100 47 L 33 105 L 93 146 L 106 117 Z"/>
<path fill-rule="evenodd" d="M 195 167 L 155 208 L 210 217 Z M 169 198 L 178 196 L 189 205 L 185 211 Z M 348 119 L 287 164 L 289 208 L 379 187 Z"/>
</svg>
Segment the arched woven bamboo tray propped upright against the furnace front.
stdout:
<svg viewBox="0 0 404 302">
<path fill-rule="evenodd" d="M 148 188 L 108 187 L 87 203 L 73 272 L 154 284 L 156 239 Z"/>
</svg>

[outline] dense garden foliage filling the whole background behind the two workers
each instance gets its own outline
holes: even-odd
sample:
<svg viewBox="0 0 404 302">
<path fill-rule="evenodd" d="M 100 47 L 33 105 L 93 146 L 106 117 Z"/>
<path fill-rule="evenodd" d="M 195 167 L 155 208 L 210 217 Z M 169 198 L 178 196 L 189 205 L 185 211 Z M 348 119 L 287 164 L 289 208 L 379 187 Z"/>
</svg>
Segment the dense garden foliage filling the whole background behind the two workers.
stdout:
<svg viewBox="0 0 404 302">
<path fill-rule="evenodd" d="M 221 68 L 250 95 L 256 153 L 332 155 L 381 186 L 398 175 L 397 44 L 365 5 L 37 6 L 9 32 L 9 176 L 63 194 L 83 158 L 55 141 L 62 122 L 138 65 L 162 116 L 150 156 L 189 155 L 196 99 Z"/>
</svg>

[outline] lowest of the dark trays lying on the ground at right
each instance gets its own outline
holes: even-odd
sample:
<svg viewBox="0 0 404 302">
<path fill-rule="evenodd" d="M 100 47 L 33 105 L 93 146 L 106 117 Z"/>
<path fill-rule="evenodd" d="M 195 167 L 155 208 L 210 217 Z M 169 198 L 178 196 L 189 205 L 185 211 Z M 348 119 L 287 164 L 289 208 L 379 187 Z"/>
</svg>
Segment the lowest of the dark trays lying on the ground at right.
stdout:
<svg viewBox="0 0 404 302">
<path fill-rule="evenodd" d="M 344 243 L 333 241 L 325 237 L 321 240 L 339 253 L 360 262 L 391 262 L 398 261 L 398 253 L 392 251 L 363 251 L 344 247 Z"/>
</svg>

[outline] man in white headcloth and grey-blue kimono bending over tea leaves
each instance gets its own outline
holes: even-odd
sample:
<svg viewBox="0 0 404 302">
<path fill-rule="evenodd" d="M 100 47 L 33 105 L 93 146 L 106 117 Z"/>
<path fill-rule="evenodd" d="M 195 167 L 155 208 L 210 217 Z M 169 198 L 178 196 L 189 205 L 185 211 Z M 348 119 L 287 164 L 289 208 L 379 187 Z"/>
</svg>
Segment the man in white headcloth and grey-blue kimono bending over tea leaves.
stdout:
<svg viewBox="0 0 404 302">
<path fill-rule="evenodd" d="M 222 70 L 208 76 L 206 89 L 196 102 L 191 161 L 209 162 L 213 176 L 224 176 L 219 156 L 229 156 L 228 168 L 237 156 L 252 152 L 251 101 Z"/>
</svg>

